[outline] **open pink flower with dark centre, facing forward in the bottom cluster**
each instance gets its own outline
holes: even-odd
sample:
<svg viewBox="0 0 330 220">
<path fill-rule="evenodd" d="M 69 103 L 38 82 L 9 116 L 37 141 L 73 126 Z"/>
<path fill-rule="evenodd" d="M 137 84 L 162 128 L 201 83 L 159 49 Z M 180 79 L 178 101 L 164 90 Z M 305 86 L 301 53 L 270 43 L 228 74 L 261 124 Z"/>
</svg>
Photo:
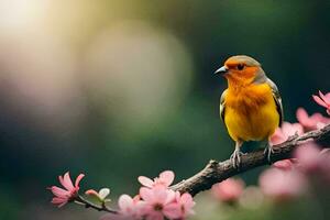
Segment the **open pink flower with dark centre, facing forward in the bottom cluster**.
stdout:
<svg viewBox="0 0 330 220">
<path fill-rule="evenodd" d="M 178 219 L 180 210 L 178 206 L 173 206 L 175 202 L 175 193 L 166 189 L 163 186 L 155 186 L 153 188 L 142 187 L 140 196 L 143 199 L 142 213 L 146 220 L 163 220 Z"/>
</svg>

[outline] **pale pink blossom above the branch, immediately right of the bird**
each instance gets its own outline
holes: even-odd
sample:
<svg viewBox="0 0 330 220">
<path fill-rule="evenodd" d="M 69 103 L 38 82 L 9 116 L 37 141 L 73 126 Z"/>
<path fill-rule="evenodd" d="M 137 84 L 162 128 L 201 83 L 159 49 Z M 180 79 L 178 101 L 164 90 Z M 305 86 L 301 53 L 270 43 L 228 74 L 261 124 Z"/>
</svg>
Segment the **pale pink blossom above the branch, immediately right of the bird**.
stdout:
<svg viewBox="0 0 330 220">
<path fill-rule="evenodd" d="M 277 128 L 275 133 L 271 136 L 271 144 L 276 145 L 287 141 L 295 134 L 302 134 L 304 130 L 299 123 L 283 122 L 282 128 Z"/>
</svg>

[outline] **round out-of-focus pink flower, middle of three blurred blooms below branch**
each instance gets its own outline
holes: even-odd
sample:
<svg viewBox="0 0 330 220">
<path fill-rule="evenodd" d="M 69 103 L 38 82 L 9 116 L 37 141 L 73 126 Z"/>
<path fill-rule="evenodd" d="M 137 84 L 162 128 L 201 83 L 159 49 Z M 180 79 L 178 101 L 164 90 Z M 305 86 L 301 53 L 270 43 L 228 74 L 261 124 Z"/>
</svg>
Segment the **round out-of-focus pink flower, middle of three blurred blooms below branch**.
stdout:
<svg viewBox="0 0 330 220">
<path fill-rule="evenodd" d="M 306 189 L 305 177 L 296 170 L 268 168 L 260 176 L 262 191 L 275 200 L 287 200 Z"/>
</svg>

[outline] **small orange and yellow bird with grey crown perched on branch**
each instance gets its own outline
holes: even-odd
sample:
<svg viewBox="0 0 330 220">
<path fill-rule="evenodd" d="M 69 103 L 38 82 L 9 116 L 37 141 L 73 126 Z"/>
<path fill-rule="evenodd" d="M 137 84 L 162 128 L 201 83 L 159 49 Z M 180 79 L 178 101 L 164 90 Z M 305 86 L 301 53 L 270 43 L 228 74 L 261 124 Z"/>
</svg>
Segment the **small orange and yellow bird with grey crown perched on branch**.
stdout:
<svg viewBox="0 0 330 220">
<path fill-rule="evenodd" d="M 283 122 L 282 98 L 276 84 L 256 59 L 246 55 L 229 57 L 215 74 L 222 75 L 228 82 L 220 98 L 220 118 L 235 142 L 230 156 L 233 167 L 240 167 L 241 146 L 248 141 L 266 141 L 264 153 L 271 163 L 274 151 L 270 139 Z"/>
</svg>

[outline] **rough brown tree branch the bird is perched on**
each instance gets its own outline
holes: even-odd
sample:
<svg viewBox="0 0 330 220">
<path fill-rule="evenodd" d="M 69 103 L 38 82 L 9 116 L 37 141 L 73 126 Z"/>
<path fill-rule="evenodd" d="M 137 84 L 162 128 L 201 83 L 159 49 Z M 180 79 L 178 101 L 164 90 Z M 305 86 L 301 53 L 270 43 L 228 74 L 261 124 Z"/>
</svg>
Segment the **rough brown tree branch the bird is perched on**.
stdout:
<svg viewBox="0 0 330 220">
<path fill-rule="evenodd" d="M 310 131 L 300 136 L 294 135 L 286 142 L 274 145 L 272 162 L 274 163 L 280 160 L 290 158 L 293 151 L 297 146 L 309 141 L 316 141 L 323 147 L 330 147 L 330 124 L 321 130 Z M 267 164 L 268 162 L 264 155 L 264 150 L 243 155 L 241 157 L 241 166 L 239 169 L 232 166 L 230 160 L 224 162 L 210 161 L 202 170 L 193 177 L 172 186 L 172 189 L 180 193 L 189 193 L 191 196 L 195 196 L 200 191 L 210 189 L 213 184 Z"/>
</svg>

